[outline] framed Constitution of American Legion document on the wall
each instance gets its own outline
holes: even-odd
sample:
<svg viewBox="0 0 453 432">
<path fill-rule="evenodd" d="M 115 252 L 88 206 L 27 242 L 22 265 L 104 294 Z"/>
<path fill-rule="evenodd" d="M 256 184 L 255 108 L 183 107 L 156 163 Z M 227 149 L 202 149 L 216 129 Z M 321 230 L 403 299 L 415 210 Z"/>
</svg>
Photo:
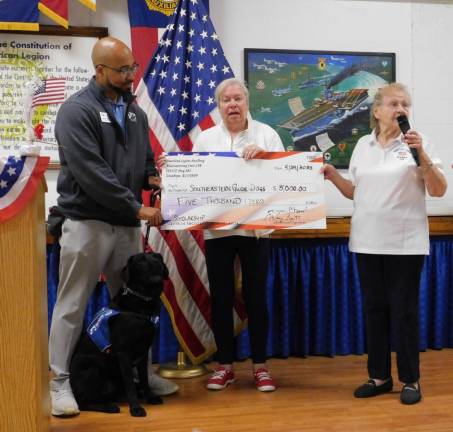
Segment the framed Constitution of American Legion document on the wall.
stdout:
<svg viewBox="0 0 453 432">
<path fill-rule="evenodd" d="M 93 76 L 91 49 L 104 27 L 41 26 L 39 32 L 0 32 L 0 155 L 18 154 L 27 139 L 28 120 L 35 130 L 41 155 L 59 167 L 55 118 L 61 103 L 84 87 Z M 58 86 L 58 98 L 48 89 Z M 53 95 L 55 96 L 55 95 Z"/>
</svg>

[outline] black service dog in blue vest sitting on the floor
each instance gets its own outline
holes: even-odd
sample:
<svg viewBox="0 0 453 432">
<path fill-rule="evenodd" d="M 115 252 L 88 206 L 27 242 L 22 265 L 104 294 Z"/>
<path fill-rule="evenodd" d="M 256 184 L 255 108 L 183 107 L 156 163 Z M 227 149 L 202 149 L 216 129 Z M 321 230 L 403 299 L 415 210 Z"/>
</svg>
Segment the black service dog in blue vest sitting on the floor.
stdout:
<svg viewBox="0 0 453 432">
<path fill-rule="evenodd" d="M 148 385 L 148 352 L 167 278 L 160 254 L 139 253 L 129 258 L 122 272 L 122 290 L 93 319 L 71 359 L 71 387 L 82 411 L 117 413 L 116 402 L 126 398 L 131 415 L 144 417 L 140 393 L 147 403 L 162 403 Z"/>
</svg>

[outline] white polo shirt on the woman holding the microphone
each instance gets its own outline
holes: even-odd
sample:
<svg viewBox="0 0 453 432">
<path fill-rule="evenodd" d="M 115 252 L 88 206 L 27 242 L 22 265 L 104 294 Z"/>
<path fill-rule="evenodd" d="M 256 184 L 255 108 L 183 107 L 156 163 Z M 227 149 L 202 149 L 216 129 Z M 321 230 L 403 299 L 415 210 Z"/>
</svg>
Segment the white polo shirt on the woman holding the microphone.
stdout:
<svg viewBox="0 0 453 432">
<path fill-rule="evenodd" d="M 425 137 L 433 164 L 442 162 Z M 352 153 L 349 176 L 355 186 L 349 249 L 383 255 L 428 255 L 425 183 L 402 135 L 382 147 L 373 131 Z"/>
</svg>

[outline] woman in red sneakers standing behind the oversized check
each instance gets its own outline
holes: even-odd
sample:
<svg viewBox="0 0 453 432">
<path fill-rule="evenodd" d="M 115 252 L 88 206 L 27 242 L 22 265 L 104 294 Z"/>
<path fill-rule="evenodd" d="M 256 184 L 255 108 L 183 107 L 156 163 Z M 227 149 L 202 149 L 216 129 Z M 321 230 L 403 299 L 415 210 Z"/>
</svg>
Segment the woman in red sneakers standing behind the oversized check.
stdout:
<svg viewBox="0 0 453 432">
<path fill-rule="evenodd" d="M 248 115 L 249 93 L 244 83 L 230 78 L 215 92 L 222 122 L 207 129 L 195 141 L 194 152 L 236 152 L 245 160 L 262 151 L 284 151 L 278 134 L 268 125 Z M 159 167 L 165 156 L 158 159 Z M 239 257 L 250 337 L 256 388 L 273 391 L 275 384 L 266 367 L 268 315 L 266 277 L 269 258 L 269 233 L 256 230 L 205 230 L 205 256 L 209 279 L 212 326 L 219 367 L 209 378 L 207 388 L 222 390 L 235 380 L 233 361 L 235 297 L 234 260 Z"/>
</svg>

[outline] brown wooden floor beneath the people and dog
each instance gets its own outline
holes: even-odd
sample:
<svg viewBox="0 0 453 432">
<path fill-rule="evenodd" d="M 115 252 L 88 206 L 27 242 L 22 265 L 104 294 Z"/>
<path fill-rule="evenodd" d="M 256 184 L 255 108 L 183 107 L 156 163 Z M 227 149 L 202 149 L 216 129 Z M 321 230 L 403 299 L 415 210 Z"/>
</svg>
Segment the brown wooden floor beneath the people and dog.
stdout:
<svg viewBox="0 0 453 432">
<path fill-rule="evenodd" d="M 254 386 L 250 361 L 236 364 L 236 382 L 220 392 L 205 389 L 206 376 L 177 380 L 178 394 L 160 406 L 146 405 L 147 417 L 82 412 L 52 418 L 51 432 L 453 432 L 453 349 L 421 354 L 422 401 L 399 402 L 394 391 L 355 399 L 366 378 L 366 356 L 272 359 L 278 384 L 273 393 Z M 210 366 L 214 366 L 213 364 Z"/>
</svg>

